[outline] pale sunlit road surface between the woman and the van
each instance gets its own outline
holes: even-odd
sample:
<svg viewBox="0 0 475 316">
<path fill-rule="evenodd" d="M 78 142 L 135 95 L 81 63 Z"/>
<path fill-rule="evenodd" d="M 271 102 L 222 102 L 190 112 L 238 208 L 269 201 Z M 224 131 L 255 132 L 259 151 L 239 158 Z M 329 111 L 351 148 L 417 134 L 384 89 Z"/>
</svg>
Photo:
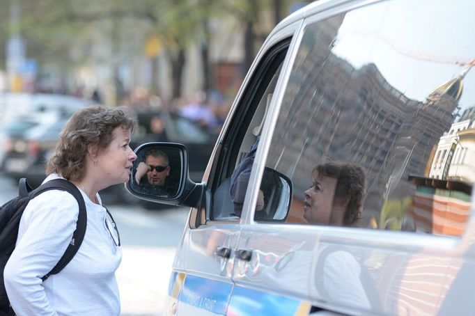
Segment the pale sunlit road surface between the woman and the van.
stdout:
<svg viewBox="0 0 475 316">
<path fill-rule="evenodd" d="M 0 175 L 0 203 L 17 196 L 17 183 Z M 136 205 L 107 205 L 123 244 L 117 271 L 123 316 L 163 315 L 171 264 L 188 208 L 144 210 Z"/>
</svg>

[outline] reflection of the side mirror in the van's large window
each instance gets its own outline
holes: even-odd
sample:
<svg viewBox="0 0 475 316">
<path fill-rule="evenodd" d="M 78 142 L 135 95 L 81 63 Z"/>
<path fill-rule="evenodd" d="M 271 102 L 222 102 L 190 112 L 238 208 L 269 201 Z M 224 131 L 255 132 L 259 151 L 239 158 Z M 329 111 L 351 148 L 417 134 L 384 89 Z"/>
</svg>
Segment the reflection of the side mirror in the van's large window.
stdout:
<svg viewBox="0 0 475 316">
<path fill-rule="evenodd" d="M 263 203 L 258 203 L 254 219 L 256 221 L 285 221 L 290 210 L 292 194 L 292 181 L 283 173 L 265 167 L 263 179 L 260 182 Z"/>
</svg>

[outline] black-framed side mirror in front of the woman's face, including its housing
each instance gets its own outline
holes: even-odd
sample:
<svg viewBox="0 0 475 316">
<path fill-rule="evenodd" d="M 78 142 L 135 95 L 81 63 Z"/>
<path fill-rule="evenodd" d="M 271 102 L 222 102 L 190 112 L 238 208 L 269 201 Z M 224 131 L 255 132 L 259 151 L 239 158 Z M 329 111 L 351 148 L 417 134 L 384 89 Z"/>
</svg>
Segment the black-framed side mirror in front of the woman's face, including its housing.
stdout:
<svg viewBox="0 0 475 316">
<path fill-rule="evenodd" d="M 137 159 L 125 188 L 151 202 L 198 207 L 203 184 L 189 179 L 188 151 L 178 143 L 145 143 L 134 150 Z"/>
</svg>

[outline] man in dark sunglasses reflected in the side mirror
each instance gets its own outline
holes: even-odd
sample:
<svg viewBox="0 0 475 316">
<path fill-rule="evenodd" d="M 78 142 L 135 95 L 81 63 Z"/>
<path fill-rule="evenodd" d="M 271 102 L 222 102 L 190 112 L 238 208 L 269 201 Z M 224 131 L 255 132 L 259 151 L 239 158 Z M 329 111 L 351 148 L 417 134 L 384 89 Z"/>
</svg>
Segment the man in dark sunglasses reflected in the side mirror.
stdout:
<svg viewBox="0 0 475 316">
<path fill-rule="evenodd" d="M 170 174 L 169 157 L 165 152 L 152 148 L 145 161 L 137 166 L 134 180 L 143 193 L 157 197 L 168 198 L 173 195 L 173 189 L 166 186 L 166 177 Z"/>
</svg>

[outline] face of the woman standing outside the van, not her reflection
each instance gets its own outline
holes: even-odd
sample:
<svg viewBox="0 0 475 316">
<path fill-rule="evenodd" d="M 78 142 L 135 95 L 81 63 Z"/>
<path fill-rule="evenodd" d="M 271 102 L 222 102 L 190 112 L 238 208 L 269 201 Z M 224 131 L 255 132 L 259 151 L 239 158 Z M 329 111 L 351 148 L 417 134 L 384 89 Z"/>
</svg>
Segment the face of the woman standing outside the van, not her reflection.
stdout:
<svg viewBox="0 0 475 316">
<path fill-rule="evenodd" d="M 132 170 L 132 162 L 137 159 L 130 148 L 130 129 L 121 126 L 112 132 L 111 143 L 101 150 L 98 155 L 98 166 L 101 171 L 100 181 L 105 187 L 127 182 Z M 104 188 L 105 188 L 104 187 Z"/>
</svg>

